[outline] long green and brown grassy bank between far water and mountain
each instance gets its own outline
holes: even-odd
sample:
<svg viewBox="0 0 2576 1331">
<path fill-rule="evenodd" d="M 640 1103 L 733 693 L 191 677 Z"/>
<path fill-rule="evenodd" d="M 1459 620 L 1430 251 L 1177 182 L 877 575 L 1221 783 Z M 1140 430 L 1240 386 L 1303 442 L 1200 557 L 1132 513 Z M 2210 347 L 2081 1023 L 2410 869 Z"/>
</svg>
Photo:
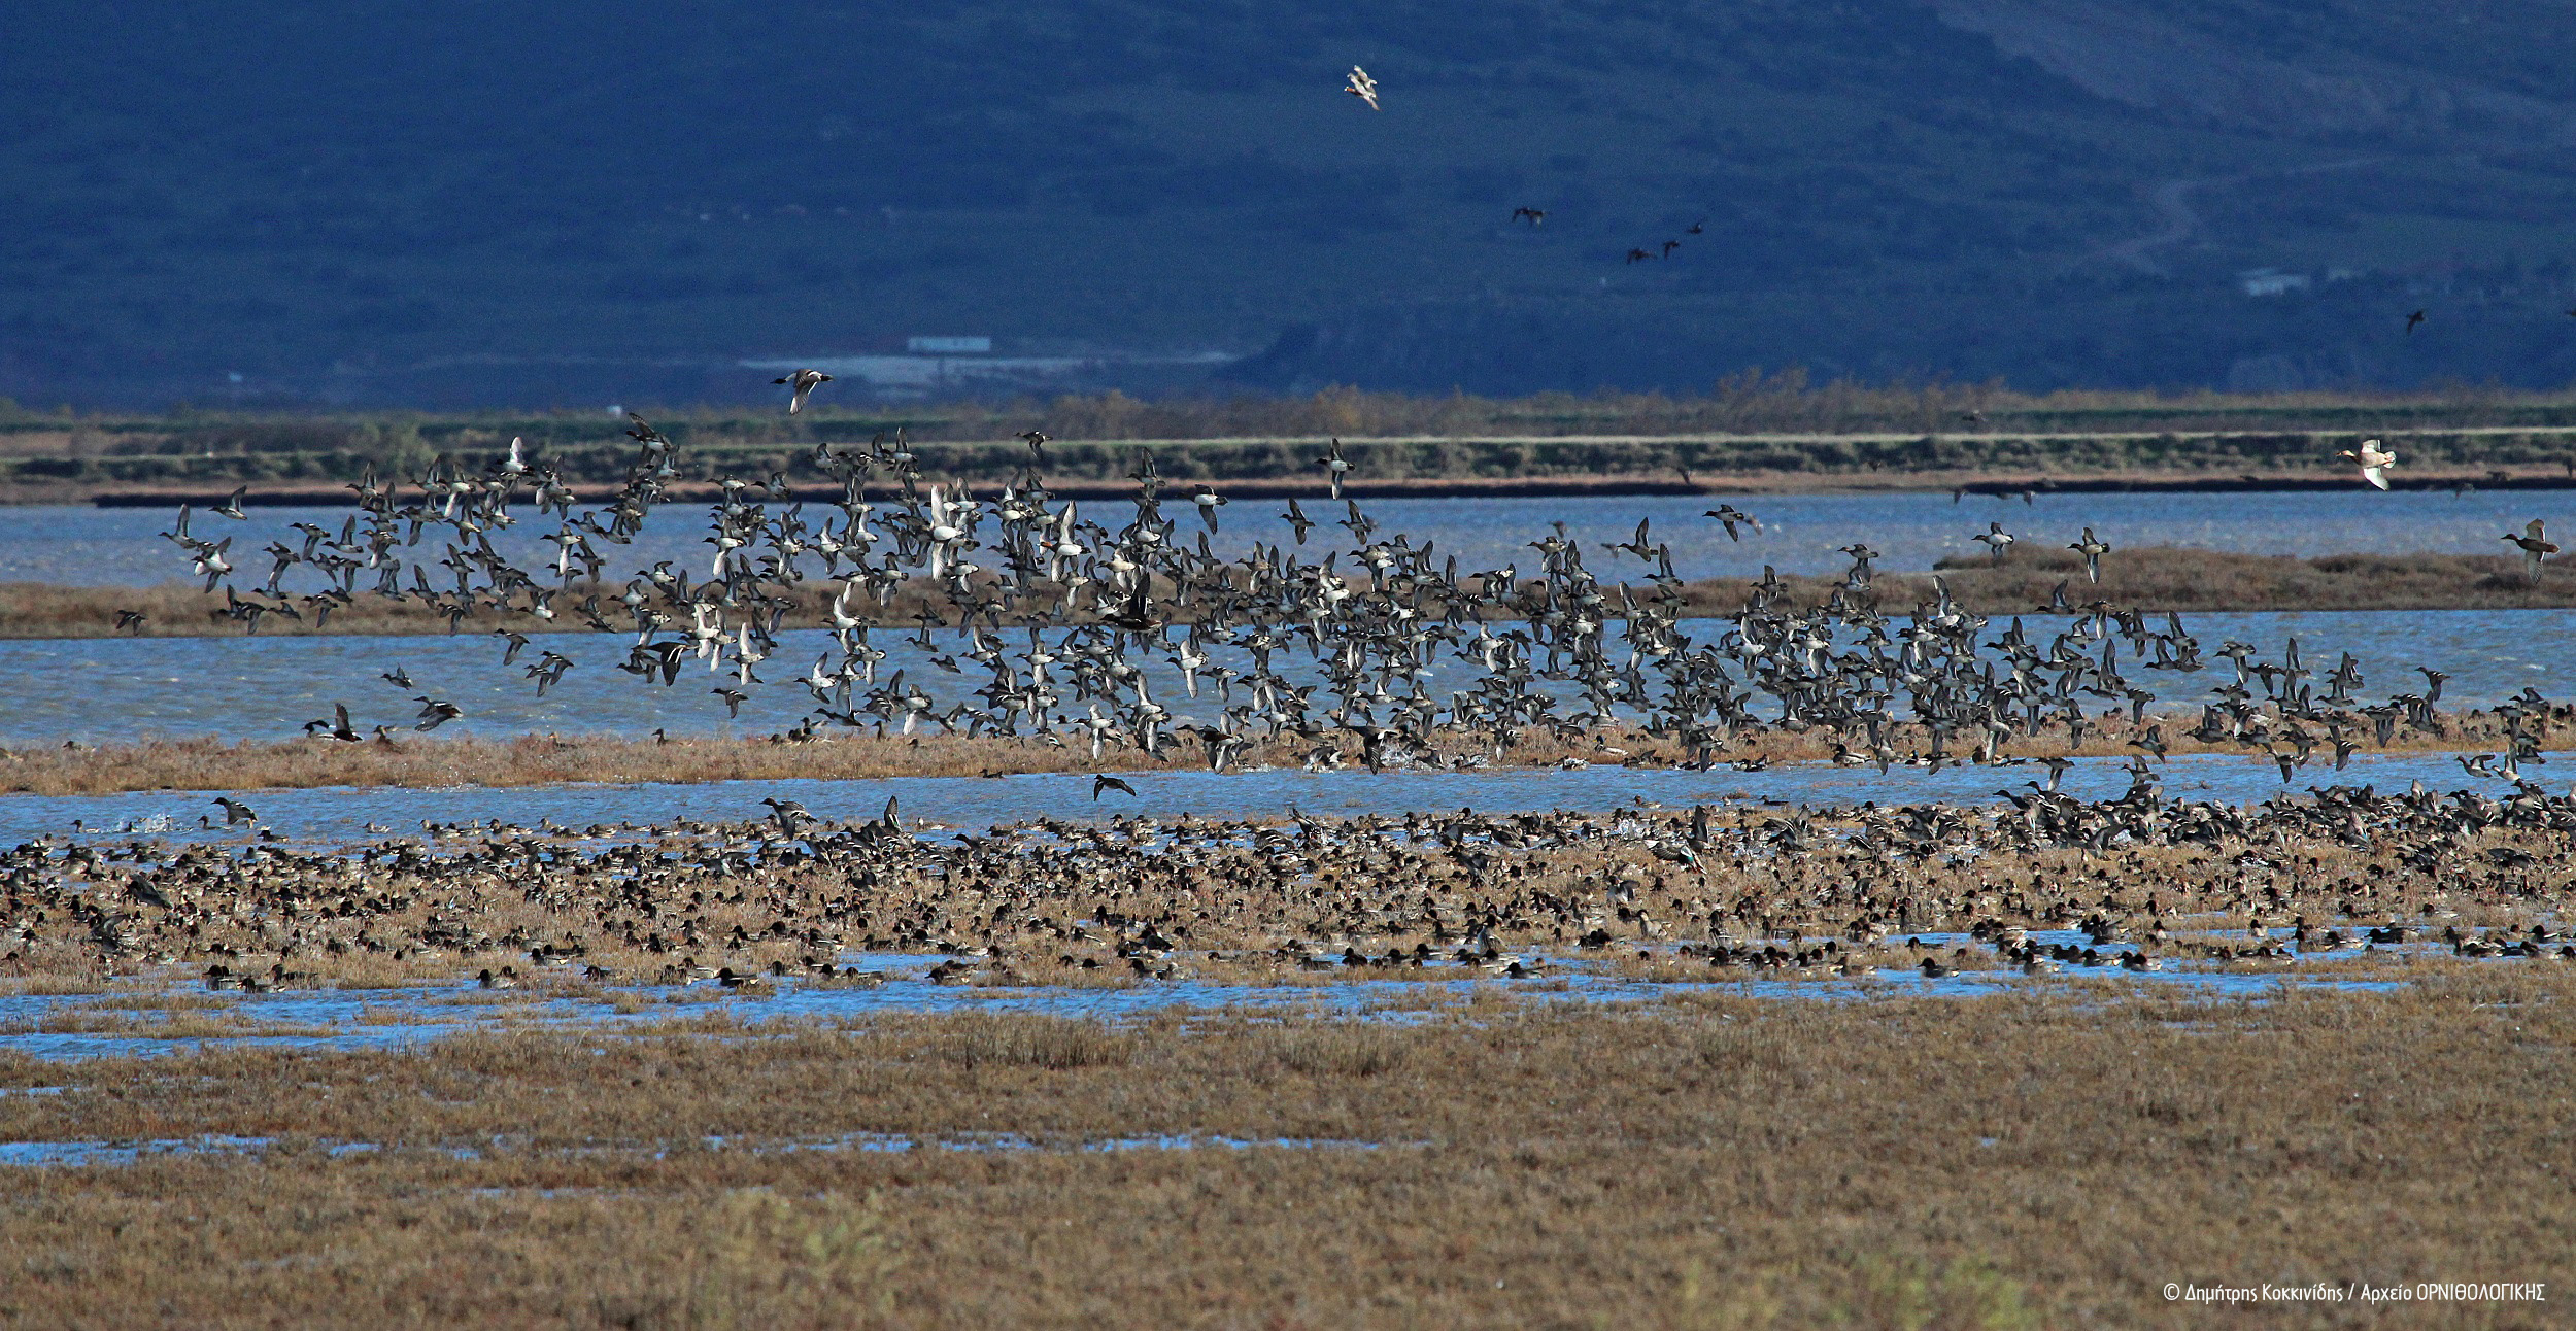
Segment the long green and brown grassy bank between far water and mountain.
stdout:
<svg viewBox="0 0 2576 1331">
<path fill-rule="evenodd" d="M 1352 481 L 1427 487 L 1953 487 L 1953 484 L 2300 484 L 2344 474 L 2360 438 L 2403 458 L 2398 484 L 2543 481 L 2576 474 L 2576 404 L 2548 394 L 2354 399 L 2050 394 L 1927 386 L 1865 391 L 1736 381 L 1710 396 L 1422 399 L 1324 391 L 1298 399 L 1136 402 L 1118 394 L 948 404 L 904 412 L 657 414 L 690 476 L 822 481 L 814 443 L 907 430 L 930 479 L 1007 481 L 1025 430 L 1056 435 L 1048 479 L 1115 484 L 1139 448 L 1175 479 L 1314 481 L 1342 438 Z M 0 420 L 0 499 L 95 494 L 325 492 L 366 466 L 410 476 L 438 456 L 477 458 L 528 438 L 567 481 L 613 484 L 626 422 L 585 414 L 374 417 L 41 417 Z"/>
</svg>

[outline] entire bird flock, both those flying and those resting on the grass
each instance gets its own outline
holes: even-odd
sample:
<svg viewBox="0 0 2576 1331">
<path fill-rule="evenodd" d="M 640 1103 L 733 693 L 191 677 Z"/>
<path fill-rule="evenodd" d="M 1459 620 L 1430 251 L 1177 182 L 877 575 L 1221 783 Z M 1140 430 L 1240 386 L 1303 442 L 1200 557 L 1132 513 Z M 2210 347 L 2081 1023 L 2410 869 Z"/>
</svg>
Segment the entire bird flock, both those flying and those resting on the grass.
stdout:
<svg viewBox="0 0 2576 1331">
<path fill-rule="evenodd" d="M 1345 90 L 1381 108 L 1365 70 L 1352 67 Z M 1515 221 L 1538 227 L 1546 214 L 1517 209 Z M 1628 252 L 1643 257 L 1656 255 Z M 799 414 L 829 381 L 804 368 L 778 386 Z M 2179 615 L 2151 623 L 2099 597 L 2069 600 L 2066 584 L 2032 608 L 2063 615 L 2038 633 L 1963 610 L 1940 577 L 1914 605 L 1883 605 L 1880 554 L 1865 541 L 1842 548 L 1850 569 L 1821 602 L 1801 605 L 1765 569 L 1741 610 L 1700 620 L 1685 615 L 1672 541 L 1649 520 L 1628 541 L 1595 543 L 1602 561 L 1636 561 L 1607 579 L 1564 523 L 1528 543 L 1528 566 L 1461 569 L 1345 497 L 1352 463 L 1340 440 L 1314 458 L 1321 494 L 1309 502 L 1342 512 L 1319 520 L 1291 497 L 1278 515 L 1288 541 L 1255 541 L 1239 556 L 1211 546 L 1226 497 L 1208 487 L 1167 494 L 1151 451 L 1136 456 L 1128 502 L 1084 512 L 1048 489 L 1043 430 L 1023 435 L 1028 463 L 989 497 L 925 481 L 896 430 L 863 448 L 814 445 L 811 469 L 840 489 L 824 512 L 809 515 L 783 474 L 726 476 L 703 566 L 659 559 L 611 574 L 616 551 L 675 502 L 688 474 L 677 443 L 644 417 L 631 417 L 629 435 L 626 479 L 598 502 L 523 440 L 479 469 L 438 458 L 407 487 L 368 471 L 337 533 L 299 523 L 301 541 L 270 543 L 268 577 L 247 590 L 234 584 L 232 538 L 191 530 L 188 507 L 165 535 L 209 592 L 224 590 L 216 613 L 252 631 L 263 615 L 319 620 L 358 597 L 410 600 L 451 631 L 497 615 L 507 667 L 531 633 L 585 628 L 623 644 L 616 669 L 639 685 L 675 687 L 696 667 L 729 711 L 768 682 L 762 672 L 793 680 L 811 698 L 793 739 L 835 726 L 938 729 L 1095 759 L 1110 747 L 1151 759 L 1195 749 L 1211 770 L 1285 741 L 1314 767 L 1355 754 L 1383 770 L 1432 754 L 1440 739 L 1468 736 L 1502 759 L 1533 734 L 1607 747 L 1631 731 L 1710 767 L 1752 736 L 1785 731 L 1829 736 L 1837 759 L 1886 772 L 2007 762 L 2007 744 L 2043 736 L 2074 754 L 2125 713 L 2130 788 L 2076 801 L 2058 790 L 2069 759 L 2045 757 L 2045 785 L 1999 790 L 2002 806 L 1842 816 L 1703 806 L 1334 824 L 1291 811 L 1293 824 L 1048 821 L 922 839 L 891 801 L 878 819 L 835 824 L 770 798 L 770 819 L 732 826 L 531 832 L 492 821 L 425 826 L 422 839 L 355 855 L 291 852 L 268 832 L 247 847 L 183 850 L 39 839 L 0 852 L 0 965 L 214 958 L 206 981 L 216 989 L 291 986 L 314 978 L 309 965 L 479 960 L 492 963 L 479 976 L 489 986 L 520 983 L 520 963 L 577 965 L 595 981 L 863 983 L 837 963 L 863 947 L 938 950 L 948 960 L 933 978 L 953 983 L 1018 983 L 1105 965 L 1136 978 L 1177 978 L 1188 965 L 1520 976 L 1551 947 L 1633 945 L 1654 965 L 1837 973 L 1909 947 L 1909 968 L 1940 976 L 1984 963 L 2282 960 L 2293 947 L 2427 935 L 2460 955 L 2543 955 L 2555 942 L 2535 906 L 2548 893 L 2535 888 L 2532 847 L 2576 829 L 2576 803 L 2524 775 L 2545 762 L 2550 726 L 2568 718 L 2537 690 L 2494 708 L 2501 754 L 2463 759 L 2512 780 L 2504 798 L 2311 788 L 2306 803 L 2259 811 L 2187 803 L 2161 790 L 2166 718 L 2146 713 L 2156 700 L 2146 675 L 2231 664 L 2184 734 L 2264 754 L 2282 783 L 2313 762 L 2344 767 L 2362 744 L 2388 747 L 2401 731 L 2450 739 L 2463 721 L 2437 708 L 2447 677 L 2424 669 L 2424 690 L 2367 703 L 2349 654 L 2313 669 L 2295 638 L 2277 659 L 2241 641 L 2208 646 Z M 2380 440 L 2344 458 L 2378 489 L 2398 463 Z M 209 512 L 242 520 L 240 499 Z M 1734 505 L 1705 517 L 1731 541 L 1762 530 Z M 546 528 L 551 559 L 495 546 L 520 523 Z M 1347 541 L 1314 548 L 1327 525 Z M 1976 541 L 2004 561 L 2022 538 L 1989 523 Z M 2504 541 L 2532 579 L 2558 554 L 2537 520 Z M 2084 528 L 2069 548 L 2099 584 L 2112 546 Z M 309 582 L 291 590 L 289 577 Z M 801 672 L 781 659 L 791 620 L 829 644 Z M 896 636 L 979 687 L 935 695 L 920 672 L 881 672 Z M 538 649 L 526 677 L 546 693 L 574 667 Z M 399 667 L 384 680 L 417 687 Z M 420 731 L 464 716 L 430 693 L 412 698 Z M 366 739 L 345 703 L 307 734 Z M 1092 798 L 1110 793 L 1136 790 L 1095 772 Z M 227 829 L 258 829 L 247 803 L 224 796 L 216 806 Z M 2105 857 L 2117 857 L 2117 873 Z M 2463 932 L 2465 901 L 2486 911 L 2483 927 L 2473 919 Z M 2048 942 L 2050 932 L 2061 937 Z M 1917 937 L 1891 942 L 1899 935 Z"/>
</svg>

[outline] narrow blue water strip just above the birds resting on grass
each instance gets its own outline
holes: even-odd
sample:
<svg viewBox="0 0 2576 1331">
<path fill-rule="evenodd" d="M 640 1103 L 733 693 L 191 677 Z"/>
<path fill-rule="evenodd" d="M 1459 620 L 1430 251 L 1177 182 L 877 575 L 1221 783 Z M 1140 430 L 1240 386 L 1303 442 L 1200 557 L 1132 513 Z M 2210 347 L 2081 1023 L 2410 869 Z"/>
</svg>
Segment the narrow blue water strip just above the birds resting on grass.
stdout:
<svg viewBox="0 0 2576 1331">
<path fill-rule="evenodd" d="M 2488 793 L 2506 793 L 2501 780 L 2468 780 L 2452 754 L 2362 754 L 2352 767 L 2308 767 L 2295 783 L 2280 780 L 2280 767 L 2267 759 L 2233 754 L 2182 754 L 2156 767 L 2169 798 L 2259 803 L 2282 793 L 2306 793 L 2311 785 L 2378 785 L 2403 790 L 2421 780 L 2427 788 L 2450 790 L 2463 783 Z M 2548 767 L 2524 770 L 2532 780 L 2550 780 Z M 2568 765 L 2576 777 L 2576 762 Z M 636 783 L 636 785 L 510 785 L 510 788 L 317 788 L 317 790 L 258 790 L 245 801 L 258 814 L 260 826 L 301 844 L 355 844 L 384 834 L 417 834 L 422 821 L 477 824 L 502 819 L 507 824 L 536 826 L 554 819 L 567 826 L 585 824 L 672 824 L 693 821 L 757 821 L 768 819 L 762 798 L 788 798 L 804 803 L 824 821 L 868 821 L 884 814 L 886 801 L 899 801 L 907 824 L 927 824 L 927 832 L 966 829 L 981 832 L 1005 821 L 1064 819 L 1103 821 L 1123 816 L 1172 819 L 1195 814 L 1200 819 L 1283 819 L 1291 808 L 1319 816 L 1404 811 L 1476 808 L 1481 814 L 1543 814 L 1543 811 L 1610 811 L 1631 803 L 1687 808 L 1692 803 L 1723 801 L 1780 801 L 1795 806 L 1857 806 L 1878 803 L 1994 803 L 1996 790 L 2027 790 L 2027 783 L 2045 785 L 2048 770 L 2035 762 L 1999 767 L 1893 767 L 1880 775 L 1875 767 L 1832 767 L 1821 762 L 1785 765 L 1765 772 L 1685 772 L 1672 767 L 1615 767 L 1595 765 L 1579 770 L 1512 767 L 1494 772 L 1306 772 L 1306 770 L 1249 770 L 1206 772 L 1164 770 L 1126 772 L 1136 798 L 1110 793 L 1092 798 L 1092 777 L 1082 772 L 1046 772 L 1018 777 L 886 777 L 886 780 L 719 780 L 696 785 Z M 2076 798 L 2117 798 L 2130 788 L 2123 759 L 2076 759 L 2061 790 Z M 165 839 L 232 839 L 240 832 L 201 826 L 201 819 L 222 824 L 211 796 L 204 790 L 134 790 L 118 796 L 0 796 L 0 842 L 28 837 L 70 834 L 75 819 L 82 834 L 118 837 L 144 834 Z"/>
</svg>

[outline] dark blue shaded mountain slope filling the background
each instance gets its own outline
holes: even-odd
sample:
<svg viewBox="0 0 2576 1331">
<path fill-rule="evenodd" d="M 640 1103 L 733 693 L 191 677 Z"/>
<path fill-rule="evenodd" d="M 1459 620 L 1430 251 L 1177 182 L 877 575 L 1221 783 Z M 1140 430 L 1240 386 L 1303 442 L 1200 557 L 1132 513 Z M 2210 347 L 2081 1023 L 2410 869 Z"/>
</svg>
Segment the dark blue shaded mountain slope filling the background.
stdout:
<svg viewBox="0 0 2576 1331">
<path fill-rule="evenodd" d="M 744 358 L 948 332 L 1221 350 L 1239 386 L 2558 384 L 2568 28 L 2537 0 L 28 0 L 0 391 L 732 399 L 765 391 Z M 1352 62 L 1383 113 L 1337 93 Z M 2249 296 L 2254 268 L 2308 286 Z"/>
</svg>

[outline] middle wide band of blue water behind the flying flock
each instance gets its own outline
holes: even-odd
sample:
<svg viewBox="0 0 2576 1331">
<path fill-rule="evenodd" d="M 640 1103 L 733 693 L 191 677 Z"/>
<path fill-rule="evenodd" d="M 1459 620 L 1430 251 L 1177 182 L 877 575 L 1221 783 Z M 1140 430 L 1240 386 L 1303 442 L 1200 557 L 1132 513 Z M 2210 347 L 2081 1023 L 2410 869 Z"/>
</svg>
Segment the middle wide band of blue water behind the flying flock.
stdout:
<svg viewBox="0 0 2576 1331">
<path fill-rule="evenodd" d="M 5 510 L 0 510 L 5 512 Z M 1996 620 L 1996 633 L 2002 633 Z M 2045 626 L 2045 628 L 2043 628 Z M 2032 620 L 2032 633 L 2053 633 L 2063 620 Z M 1507 628 L 1507 626 L 1497 626 Z M 2561 680 L 2576 680 L 2576 610 L 2316 610 L 2316 613 L 2226 613 L 2187 615 L 2184 628 L 2200 636 L 2202 651 L 2236 638 L 2277 659 L 2290 638 L 2318 672 L 2334 667 L 2339 651 L 2362 662 L 2365 698 L 2421 690 L 2414 667 L 2437 667 L 2452 680 L 2442 705 L 2483 705 L 2540 687 L 2566 693 Z M 1685 620 L 1682 631 L 1713 641 L 1718 620 Z M 1054 636 L 1048 638 L 1054 641 Z M 811 662 L 832 649 L 829 633 L 786 631 L 778 651 L 762 664 L 768 687 L 752 687 L 742 716 L 726 716 L 711 690 L 732 685 L 732 675 L 690 664 L 677 685 L 647 685 L 616 669 L 631 638 L 621 633 L 549 633 L 520 651 L 518 664 L 500 664 L 505 644 L 484 633 L 456 636 L 314 636 L 314 638 L 15 638 L 0 641 L 0 744 L 90 744 L 144 736 L 222 736 L 289 739 L 307 721 L 330 721 L 332 703 L 348 703 L 361 731 L 379 723 L 410 734 L 420 703 L 415 695 L 446 698 L 464 718 L 440 726 L 443 736 L 518 736 L 531 731 L 626 734 L 654 729 L 672 734 L 762 736 L 796 726 L 814 698 L 796 682 Z M 1020 651 L 1025 633 L 1005 633 L 1002 646 Z M 933 654 L 956 654 L 956 633 L 940 633 L 925 651 L 899 633 L 878 633 L 886 651 L 878 682 L 896 669 L 920 682 L 940 705 L 966 700 L 989 682 L 974 662 L 948 672 Z M 574 662 L 546 698 L 526 677 L 541 651 Z M 1221 664 L 1247 664 L 1242 654 L 1211 649 Z M 837 654 L 835 654 L 837 662 Z M 415 687 L 394 687 L 381 675 L 402 667 Z M 1146 662 L 1159 698 L 1180 723 L 1216 721 L 1226 703 L 1213 685 L 1200 685 L 1193 700 L 1180 672 L 1162 659 Z M 1314 664 L 1283 651 L 1280 675 L 1311 682 Z M 1466 687 L 1481 664 L 1440 654 L 1425 687 L 1440 698 Z M 2197 711 L 2208 690 L 2233 682 L 2233 667 L 2215 662 L 2197 675 L 2133 672 L 2141 687 L 2156 690 L 2161 708 Z M 863 690 L 860 690 L 863 693 Z M 1236 698 L 1242 700 L 1242 695 Z M 1767 703 L 1765 703 L 1767 705 Z M 1077 708 L 1079 711 L 1079 708 Z"/>
</svg>

